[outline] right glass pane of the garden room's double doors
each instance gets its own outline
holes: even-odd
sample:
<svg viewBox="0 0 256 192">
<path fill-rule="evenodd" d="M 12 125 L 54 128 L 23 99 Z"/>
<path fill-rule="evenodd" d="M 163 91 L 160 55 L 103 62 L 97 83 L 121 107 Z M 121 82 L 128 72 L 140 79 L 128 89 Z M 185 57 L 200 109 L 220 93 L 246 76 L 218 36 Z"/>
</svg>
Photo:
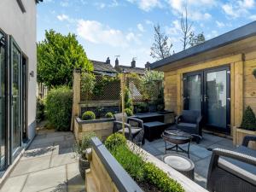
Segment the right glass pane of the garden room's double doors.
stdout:
<svg viewBox="0 0 256 192">
<path fill-rule="evenodd" d="M 227 126 L 227 70 L 206 73 L 206 119 L 207 125 Z"/>
</svg>

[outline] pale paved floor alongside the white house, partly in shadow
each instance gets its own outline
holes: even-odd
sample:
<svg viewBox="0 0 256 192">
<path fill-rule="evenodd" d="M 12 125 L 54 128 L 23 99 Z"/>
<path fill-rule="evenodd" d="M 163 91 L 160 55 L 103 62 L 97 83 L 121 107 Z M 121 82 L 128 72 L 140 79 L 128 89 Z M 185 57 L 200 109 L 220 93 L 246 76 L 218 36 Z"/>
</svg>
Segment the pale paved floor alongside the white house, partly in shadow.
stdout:
<svg viewBox="0 0 256 192">
<path fill-rule="evenodd" d="M 73 132 L 39 131 L 0 191 L 84 191 L 73 144 Z"/>
</svg>

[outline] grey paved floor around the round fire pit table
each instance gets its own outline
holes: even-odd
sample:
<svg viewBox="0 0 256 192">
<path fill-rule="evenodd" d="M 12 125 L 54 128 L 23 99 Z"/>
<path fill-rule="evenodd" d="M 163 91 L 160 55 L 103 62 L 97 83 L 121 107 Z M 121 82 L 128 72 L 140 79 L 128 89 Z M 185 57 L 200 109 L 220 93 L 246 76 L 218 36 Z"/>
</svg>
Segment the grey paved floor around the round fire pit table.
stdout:
<svg viewBox="0 0 256 192">
<path fill-rule="evenodd" d="M 171 144 L 167 145 L 167 147 L 171 146 Z M 188 144 L 180 146 L 183 149 L 188 148 Z M 163 160 L 163 156 L 165 155 L 165 143 L 163 139 L 154 140 L 151 143 L 146 141 L 143 148 L 148 151 L 148 153 L 153 154 L 160 160 Z M 236 147 L 233 146 L 231 139 L 214 136 L 208 133 L 203 133 L 201 143 L 196 144 L 195 142 L 192 142 L 190 144 L 189 156 L 190 160 L 193 160 L 195 163 L 195 182 L 199 183 L 204 188 L 207 186 L 207 172 L 212 155 L 212 151 L 209 150 L 209 148 L 234 149 Z M 181 154 L 187 157 L 187 154 L 177 153 L 174 151 L 167 151 L 167 154 Z"/>
</svg>

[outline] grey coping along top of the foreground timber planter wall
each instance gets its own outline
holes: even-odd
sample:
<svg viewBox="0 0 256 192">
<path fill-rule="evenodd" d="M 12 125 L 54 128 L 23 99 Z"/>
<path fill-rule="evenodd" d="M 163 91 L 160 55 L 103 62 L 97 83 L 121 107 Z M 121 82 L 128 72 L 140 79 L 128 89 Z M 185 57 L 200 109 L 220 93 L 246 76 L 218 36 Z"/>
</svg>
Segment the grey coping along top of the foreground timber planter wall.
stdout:
<svg viewBox="0 0 256 192">
<path fill-rule="evenodd" d="M 97 156 L 102 161 L 102 165 L 108 172 L 113 183 L 115 183 L 117 189 L 122 192 L 143 192 L 143 190 L 137 185 L 137 183 L 131 178 L 131 176 L 125 172 L 125 169 L 119 164 L 113 157 L 108 149 L 97 138 L 91 139 L 92 148 L 95 150 Z"/>
</svg>

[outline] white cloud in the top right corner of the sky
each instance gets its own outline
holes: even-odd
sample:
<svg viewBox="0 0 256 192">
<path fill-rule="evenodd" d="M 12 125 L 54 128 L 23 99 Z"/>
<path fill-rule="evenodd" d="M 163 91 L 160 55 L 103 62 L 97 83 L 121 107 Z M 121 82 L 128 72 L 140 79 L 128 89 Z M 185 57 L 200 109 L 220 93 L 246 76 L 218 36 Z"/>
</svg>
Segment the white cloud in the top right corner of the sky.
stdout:
<svg viewBox="0 0 256 192">
<path fill-rule="evenodd" d="M 254 7 L 254 0 L 233 1 L 230 3 L 224 3 L 222 5 L 224 13 L 235 19 L 241 16 L 249 15 L 249 9 L 253 9 Z"/>
</svg>

